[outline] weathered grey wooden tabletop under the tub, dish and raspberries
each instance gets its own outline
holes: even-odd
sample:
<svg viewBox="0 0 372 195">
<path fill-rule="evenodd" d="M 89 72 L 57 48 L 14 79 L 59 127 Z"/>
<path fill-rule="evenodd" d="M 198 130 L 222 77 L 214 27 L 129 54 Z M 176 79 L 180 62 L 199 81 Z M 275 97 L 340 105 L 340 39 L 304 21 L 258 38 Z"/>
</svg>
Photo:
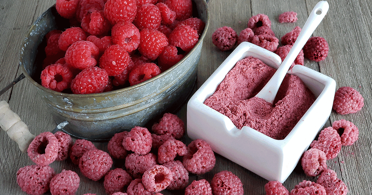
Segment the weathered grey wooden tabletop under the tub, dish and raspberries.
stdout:
<svg viewBox="0 0 372 195">
<path fill-rule="evenodd" d="M 198 66 L 197 88 L 231 53 L 231 51 L 219 51 L 212 44 L 211 35 L 217 28 L 230 26 L 239 34 L 246 28 L 247 21 L 252 15 L 263 13 L 269 16 L 272 29 L 276 37 L 280 39 L 295 26 L 302 27 L 308 13 L 317 2 L 317 0 L 210 0 L 208 6 L 211 22 Z M 54 3 L 55 0 L 0 1 L 0 88 L 20 75 L 19 50 L 25 33 L 38 16 Z M 330 47 L 328 57 L 318 63 L 305 59 L 305 66 L 334 78 L 337 83 L 336 89 L 343 86 L 357 89 L 365 98 L 365 106 L 355 114 L 340 115 L 332 111 L 324 128 L 330 126 L 335 120 L 349 120 L 359 128 L 359 140 L 352 146 L 342 147 L 336 158 L 327 161 L 327 166 L 335 170 L 338 177 L 346 183 L 349 194 L 372 194 L 372 121 L 368 111 L 371 110 L 369 100 L 370 91 L 372 91 L 372 23 L 370 22 L 372 2 L 370 0 L 332 0 L 329 4 L 328 14 L 313 34 L 313 36 L 324 37 L 327 40 Z M 287 11 L 298 13 L 299 19 L 296 23 L 278 22 L 280 13 Z M 10 108 L 19 114 L 31 133 L 38 135 L 55 127 L 52 117 L 46 110 L 46 105 L 36 93 L 35 87 L 26 79 L 1 95 L 1 100 L 9 102 Z M 183 106 L 177 114 L 186 122 L 186 106 Z M 17 185 L 16 172 L 20 167 L 31 165 L 33 162 L 27 154 L 20 152 L 16 143 L 3 131 L 0 132 L 0 140 L 3 143 L 0 147 L 0 194 L 26 194 Z M 107 150 L 106 143 L 94 144 L 102 150 Z M 218 154 L 216 157 L 217 163 L 214 169 L 199 178 L 210 181 L 215 173 L 229 170 L 242 180 L 244 194 L 265 194 L 264 185 L 267 180 Z M 62 169 L 70 169 L 79 174 L 81 183 L 77 195 L 89 192 L 97 195 L 105 194 L 102 180 L 93 182 L 82 176 L 71 161 L 55 161 L 51 166 L 56 173 Z M 193 176 L 191 179 L 196 179 L 196 177 Z M 291 191 L 302 180 L 316 181 L 316 178 L 305 176 L 301 166 L 297 166 L 283 185 Z M 170 194 L 170 192 L 164 192 L 164 194 Z"/>
</svg>

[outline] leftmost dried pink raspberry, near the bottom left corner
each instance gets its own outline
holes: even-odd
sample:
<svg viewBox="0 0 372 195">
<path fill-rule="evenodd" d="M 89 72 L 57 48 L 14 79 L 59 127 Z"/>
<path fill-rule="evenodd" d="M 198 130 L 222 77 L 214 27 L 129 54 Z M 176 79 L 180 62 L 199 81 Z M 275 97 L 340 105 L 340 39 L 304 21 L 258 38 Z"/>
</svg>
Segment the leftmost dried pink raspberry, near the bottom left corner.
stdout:
<svg viewBox="0 0 372 195">
<path fill-rule="evenodd" d="M 41 195 L 48 192 L 54 174 L 52 167 L 29 165 L 17 171 L 17 183 L 27 194 Z"/>
</svg>

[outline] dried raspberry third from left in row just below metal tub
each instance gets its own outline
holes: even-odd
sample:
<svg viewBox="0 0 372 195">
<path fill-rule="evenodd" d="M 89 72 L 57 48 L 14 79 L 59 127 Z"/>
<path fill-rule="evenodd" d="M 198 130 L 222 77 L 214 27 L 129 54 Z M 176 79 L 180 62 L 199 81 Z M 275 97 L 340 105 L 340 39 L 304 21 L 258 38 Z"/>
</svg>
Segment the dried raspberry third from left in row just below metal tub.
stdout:
<svg viewBox="0 0 372 195">
<path fill-rule="evenodd" d="M 97 149 L 91 141 L 85 139 L 76 139 L 70 149 L 70 158 L 74 164 L 79 164 L 81 156 L 89 151 Z"/>
</svg>

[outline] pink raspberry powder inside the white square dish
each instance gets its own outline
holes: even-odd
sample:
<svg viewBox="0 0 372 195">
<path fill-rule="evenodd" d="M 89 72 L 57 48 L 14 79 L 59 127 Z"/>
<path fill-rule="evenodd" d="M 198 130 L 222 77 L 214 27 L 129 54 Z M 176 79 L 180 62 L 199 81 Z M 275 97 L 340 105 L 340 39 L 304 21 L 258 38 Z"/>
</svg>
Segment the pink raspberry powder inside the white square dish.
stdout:
<svg viewBox="0 0 372 195">
<path fill-rule="evenodd" d="M 315 97 L 298 76 L 288 74 L 274 106 L 254 97 L 275 71 L 254 57 L 240 60 L 204 104 L 229 117 L 239 129 L 248 126 L 273 139 L 284 139 Z"/>
</svg>

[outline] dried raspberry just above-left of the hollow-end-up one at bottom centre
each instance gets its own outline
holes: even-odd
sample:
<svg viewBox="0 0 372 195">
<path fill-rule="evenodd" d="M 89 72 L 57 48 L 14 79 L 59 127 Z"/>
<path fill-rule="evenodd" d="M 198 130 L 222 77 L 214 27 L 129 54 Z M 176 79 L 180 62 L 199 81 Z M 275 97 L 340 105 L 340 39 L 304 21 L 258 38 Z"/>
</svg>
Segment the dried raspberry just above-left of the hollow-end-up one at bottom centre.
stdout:
<svg viewBox="0 0 372 195">
<path fill-rule="evenodd" d="M 146 170 L 157 164 L 156 158 L 153 153 L 146 155 L 132 153 L 125 158 L 125 168 L 134 178 L 141 178 Z"/>
</svg>

